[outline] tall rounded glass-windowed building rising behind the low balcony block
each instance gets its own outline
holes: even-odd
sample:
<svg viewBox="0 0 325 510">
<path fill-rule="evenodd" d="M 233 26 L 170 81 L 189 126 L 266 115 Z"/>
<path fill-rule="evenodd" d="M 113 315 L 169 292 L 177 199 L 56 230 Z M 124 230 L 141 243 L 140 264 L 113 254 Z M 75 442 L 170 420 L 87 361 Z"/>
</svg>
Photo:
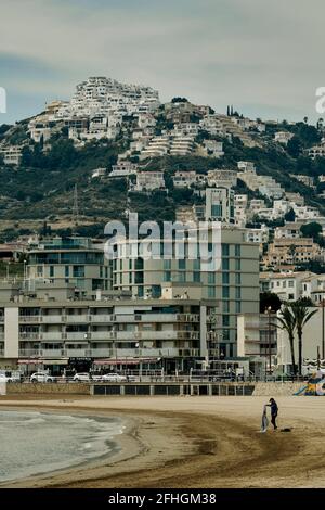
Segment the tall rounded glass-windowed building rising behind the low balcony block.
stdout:
<svg viewBox="0 0 325 510">
<path fill-rule="evenodd" d="M 245 230 L 232 228 L 222 228 L 220 243 L 220 266 L 190 258 L 186 241 L 184 257 L 179 259 L 174 255 L 170 259 L 121 258 L 121 243 L 113 262 L 113 288 L 140 298 L 212 301 L 211 337 L 224 344 L 226 356 L 235 356 L 237 316 L 259 311 L 259 246 L 246 241 Z"/>
</svg>

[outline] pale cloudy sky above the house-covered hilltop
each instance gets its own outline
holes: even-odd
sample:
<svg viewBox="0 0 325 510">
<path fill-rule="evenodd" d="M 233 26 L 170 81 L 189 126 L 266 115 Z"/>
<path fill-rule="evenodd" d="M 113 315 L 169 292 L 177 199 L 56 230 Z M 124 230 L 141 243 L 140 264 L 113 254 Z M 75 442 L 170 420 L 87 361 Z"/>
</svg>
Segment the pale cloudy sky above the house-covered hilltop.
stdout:
<svg viewBox="0 0 325 510">
<path fill-rule="evenodd" d="M 70 99 L 89 76 L 251 118 L 315 122 L 324 0 L 1 0 L 0 124 Z"/>
</svg>

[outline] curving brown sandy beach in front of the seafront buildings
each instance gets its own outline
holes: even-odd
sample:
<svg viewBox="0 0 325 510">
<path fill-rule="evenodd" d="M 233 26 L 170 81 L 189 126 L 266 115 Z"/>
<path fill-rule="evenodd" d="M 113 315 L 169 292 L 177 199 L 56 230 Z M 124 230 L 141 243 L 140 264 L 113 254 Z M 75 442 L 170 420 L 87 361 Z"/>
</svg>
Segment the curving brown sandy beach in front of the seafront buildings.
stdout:
<svg viewBox="0 0 325 510">
<path fill-rule="evenodd" d="M 260 434 L 268 397 L 0 397 L 1 408 L 118 416 L 121 450 L 6 487 L 325 487 L 325 401 L 278 397 L 280 429 Z M 290 428 L 290 432 L 281 429 Z M 4 485 L 2 485 L 4 486 Z"/>
</svg>

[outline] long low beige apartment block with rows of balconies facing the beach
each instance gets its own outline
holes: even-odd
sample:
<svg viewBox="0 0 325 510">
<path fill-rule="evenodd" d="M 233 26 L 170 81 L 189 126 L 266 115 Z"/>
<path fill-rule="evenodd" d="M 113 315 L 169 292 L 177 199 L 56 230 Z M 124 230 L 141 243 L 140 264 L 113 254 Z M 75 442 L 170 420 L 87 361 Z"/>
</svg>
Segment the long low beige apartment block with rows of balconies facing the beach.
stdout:
<svg viewBox="0 0 325 510">
<path fill-rule="evenodd" d="M 208 356 L 203 299 L 50 301 L 0 304 L 0 366 L 105 366 L 188 371 Z"/>
</svg>

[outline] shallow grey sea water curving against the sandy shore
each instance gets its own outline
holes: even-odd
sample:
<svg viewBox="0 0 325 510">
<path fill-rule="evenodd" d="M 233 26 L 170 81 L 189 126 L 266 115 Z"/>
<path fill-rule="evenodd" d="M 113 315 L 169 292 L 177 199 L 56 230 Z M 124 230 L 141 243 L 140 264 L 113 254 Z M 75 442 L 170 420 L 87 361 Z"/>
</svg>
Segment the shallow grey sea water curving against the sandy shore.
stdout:
<svg viewBox="0 0 325 510">
<path fill-rule="evenodd" d="M 0 411 L 0 482 L 77 466 L 119 449 L 118 418 Z"/>
</svg>

